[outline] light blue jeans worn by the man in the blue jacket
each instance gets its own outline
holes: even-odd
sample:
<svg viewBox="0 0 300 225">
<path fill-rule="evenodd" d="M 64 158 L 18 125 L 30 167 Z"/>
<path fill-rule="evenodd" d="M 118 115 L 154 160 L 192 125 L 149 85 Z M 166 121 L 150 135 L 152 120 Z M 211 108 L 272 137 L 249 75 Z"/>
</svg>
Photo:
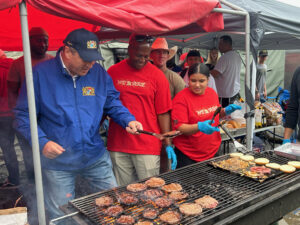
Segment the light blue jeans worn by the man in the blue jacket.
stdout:
<svg viewBox="0 0 300 225">
<path fill-rule="evenodd" d="M 75 179 L 80 175 L 94 192 L 117 186 L 108 151 L 89 167 L 73 171 L 43 169 L 45 208 L 49 219 L 63 216 L 59 206 L 75 198 Z"/>
</svg>

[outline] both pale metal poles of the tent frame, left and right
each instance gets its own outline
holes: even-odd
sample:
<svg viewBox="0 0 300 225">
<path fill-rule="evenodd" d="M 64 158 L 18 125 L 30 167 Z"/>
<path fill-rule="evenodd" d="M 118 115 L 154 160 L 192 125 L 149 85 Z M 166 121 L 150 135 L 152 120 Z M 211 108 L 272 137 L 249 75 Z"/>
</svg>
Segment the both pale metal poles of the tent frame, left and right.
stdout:
<svg viewBox="0 0 300 225">
<path fill-rule="evenodd" d="M 245 51 L 246 51 L 246 82 L 245 85 L 250 84 L 250 17 L 246 10 L 235 6 L 225 0 L 220 0 L 221 3 L 232 8 L 232 10 L 215 8 L 214 12 L 219 13 L 230 13 L 241 15 L 245 17 Z M 42 184 L 42 171 L 40 162 L 40 149 L 38 142 L 38 130 L 37 130 L 37 117 L 36 117 L 36 107 L 35 107 L 35 96 L 34 96 L 34 86 L 32 77 L 32 63 L 31 63 L 31 53 L 30 53 L 30 43 L 29 43 L 29 32 L 28 32 L 28 20 L 27 20 L 27 8 L 26 2 L 23 0 L 20 3 L 20 19 L 21 19 L 21 30 L 22 30 L 22 44 L 24 51 L 24 64 L 25 64 L 25 79 L 27 85 L 28 93 L 28 107 L 29 107 L 29 118 L 30 118 L 30 132 L 33 150 L 33 164 L 34 173 L 36 180 L 36 192 L 37 192 L 37 204 L 38 204 L 38 219 L 40 225 L 46 225 L 45 216 L 45 206 L 44 206 L 44 194 L 43 194 L 43 184 Z M 252 76 L 251 92 L 254 93 L 254 81 L 256 77 L 255 74 Z M 249 111 L 249 108 L 246 108 Z M 254 129 L 254 118 L 247 119 L 247 147 L 252 148 L 253 140 L 253 129 Z"/>
</svg>

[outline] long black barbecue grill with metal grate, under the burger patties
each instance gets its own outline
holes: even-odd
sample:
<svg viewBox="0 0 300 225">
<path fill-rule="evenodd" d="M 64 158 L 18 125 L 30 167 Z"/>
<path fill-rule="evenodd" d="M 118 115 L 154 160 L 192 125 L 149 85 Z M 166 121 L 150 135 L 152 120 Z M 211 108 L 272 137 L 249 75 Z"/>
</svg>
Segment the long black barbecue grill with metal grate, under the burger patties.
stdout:
<svg viewBox="0 0 300 225">
<path fill-rule="evenodd" d="M 279 164 L 286 164 L 289 160 L 283 157 L 278 157 L 273 152 L 255 153 L 254 156 L 266 157 L 271 162 Z M 246 215 L 251 215 L 257 211 L 258 208 L 276 206 L 276 199 L 274 195 L 280 197 L 290 196 L 293 193 L 290 206 L 293 207 L 288 210 L 293 210 L 300 205 L 300 170 L 291 174 L 278 174 L 275 177 L 265 180 L 263 183 L 251 180 L 247 177 L 242 177 L 232 174 L 228 171 L 223 171 L 209 165 L 212 160 L 226 159 L 228 156 L 220 156 L 211 160 L 196 163 L 184 168 L 177 169 L 174 172 L 164 173 L 160 177 L 163 178 L 167 184 L 179 183 L 183 189 L 189 193 L 187 199 L 177 201 L 168 209 L 157 207 L 160 214 L 169 210 L 178 210 L 178 206 L 184 202 L 194 202 L 195 199 L 204 195 L 210 195 L 218 200 L 219 204 L 215 209 L 204 209 L 202 214 L 198 216 L 182 216 L 181 224 L 265 224 L 253 221 L 251 222 L 237 222 L 239 218 Z M 145 181 L 145 180 L 143 180 Z M 141 182 L 143 182 L 141 181 Z M 126 186 L 118 187 L 113 190 L 95 193 L 78 199 L 70 201 L 72 209 L 80 212 L 82 221 L 88 219 L 85 224 L 115 224 L 116 218 L 108 217 L 104 214 L 104 210 L 95 206 L 95 199 L 104 195 L 111 196 L 115 201 L 114 204 L 119 204 L 116 198 L 116 193 L 126 191 Z M 272 205 L 273 203 L 273 205 Z M 296 205 L 295 205 L 296 204 Z M 156 207 L 152 202 L 139 201 L 135 206 L 123 206 L 126 215 L 132 215 L 136 220 L 142 220 L 142 212 L 147 207 Z M 274 209 L 276 212 L 276 208 Z M 276 212 L 277 213 L 277 212 Z M 281 212 L 281 214 L 284 212 Z M 280 213 L 277 213 L 279 216 Z M 272 216 L 272 215 L 271 215 Z M 264 218 L 265 217 L 265 218 Z M 264 221 L 268 215 L 262 212 L 260 219 Z M 270 215 L 269 215 L 270 217 Z M 79 219 L 79 221 L 81 221 Z M 271 220 L 272 218 L 269 218 Z M 274 218 L 274 220 L 277 218 Z M 78 220 L 77 220 L 78 221 Z M 221 222 L 222 221 L 222 222 Z M 271 221 L 273 222 L 273 221 Z M 80 224 L 80 222 L 79 222 Z M 153 224 L 164 224 L 158 218 L 153 220 Z"/>
</svg>

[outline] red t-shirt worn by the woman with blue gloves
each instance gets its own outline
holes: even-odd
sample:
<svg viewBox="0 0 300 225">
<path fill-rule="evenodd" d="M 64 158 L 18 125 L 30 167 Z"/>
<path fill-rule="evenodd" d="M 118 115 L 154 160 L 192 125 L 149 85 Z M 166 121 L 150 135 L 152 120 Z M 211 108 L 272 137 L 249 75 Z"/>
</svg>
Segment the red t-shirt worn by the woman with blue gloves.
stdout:
<svg viewBox="0 0 300 225">
<path fill-rule="evenodd" d="M 172 125 L 177 129 L 182 124 L 195 124 L 210 120 L 220 106 L 217 93 L 210 87 L 203 95 L 196 95 L 188 88 L 183 89 L 173 99 Z M 212 126 L 219 124 L 219 115 Z M 174 145 L 185 155 L 197 162 L 212 158 L 221 144 L 221 135 L 197 132 L 193 135 L 181 135 L 173 139 Z"/>
</svg>

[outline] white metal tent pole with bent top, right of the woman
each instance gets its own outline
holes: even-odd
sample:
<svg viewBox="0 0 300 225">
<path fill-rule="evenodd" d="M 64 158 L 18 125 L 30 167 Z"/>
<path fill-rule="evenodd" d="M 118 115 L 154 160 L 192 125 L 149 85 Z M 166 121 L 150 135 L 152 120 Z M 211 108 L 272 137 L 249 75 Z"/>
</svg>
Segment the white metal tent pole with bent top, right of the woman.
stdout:
<svg viewBox="0 0 300 225">
<path fill-rule="evenodd" d="M 229 10 L 229 9 L 222 9 L 222 8 L 215 8 L 213 11 L 214 12 L 222 12 L 222 13 L 230 13 L 230 14 L 237 14 L 241 16 L 245 16 L 245 52 L 246 52 L 246 65 L 245 65 L 245 86 L 250 87 L 252 96 L 254 96 L 255 93 L 255 79 L 256 76 L 254 75 L 252 78 L 252 85 L 250 85 L 250 16 L 249 13 L 244 10 L 243 8 L 236 6 L 232 3 L 229 3 L 225 0 L 219 0 L 220 3 L 234 9 L 237 11 Z M 254 83 L 254 85 L 253 85 Z M 247 99 L 246 99 L 247 100 Z M 250 108 L 246 104 L 246 112 L 249 112 Z M 253 142 L 253 130 L 254 130 L 254 118 L 248 117 L 247 118 L 247 132 L 246 132 L 246 141 L 247 141 L 247 149 L 251 150 L 252 149 L 252 142 Z"/>
</svg>

